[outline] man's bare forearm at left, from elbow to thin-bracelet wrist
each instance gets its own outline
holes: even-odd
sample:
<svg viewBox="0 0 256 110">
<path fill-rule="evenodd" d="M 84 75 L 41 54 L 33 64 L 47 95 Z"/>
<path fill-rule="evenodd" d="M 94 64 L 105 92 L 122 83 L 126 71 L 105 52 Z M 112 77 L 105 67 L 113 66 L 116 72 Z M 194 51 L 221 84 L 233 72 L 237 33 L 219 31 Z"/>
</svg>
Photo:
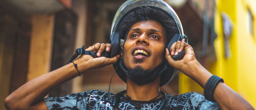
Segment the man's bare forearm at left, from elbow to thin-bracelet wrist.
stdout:
<svg viewBox="0 0 256 110">
<path fill-rule="evenodd" d="M 82 62 L 81 59 L 74 62 L 78 64 L 80 72 L 87 70 L 86 63 Z M 67 64 L 66 66 L 39 76 L 22 85 L 6 98 L 5 104 L 7 107 L 26 109 L 41 101 L 53 88 L 78 75 L 73 63 Z M 21 104 L 17 102 L 23 103 Z"/>
</svg>

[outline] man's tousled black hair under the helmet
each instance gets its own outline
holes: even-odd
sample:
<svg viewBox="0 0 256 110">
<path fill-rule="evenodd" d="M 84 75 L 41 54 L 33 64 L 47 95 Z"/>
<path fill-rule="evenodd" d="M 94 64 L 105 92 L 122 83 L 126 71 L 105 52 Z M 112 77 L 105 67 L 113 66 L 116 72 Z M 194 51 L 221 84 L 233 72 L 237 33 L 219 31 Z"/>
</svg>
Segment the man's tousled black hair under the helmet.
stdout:
<svg viewBox="0 0 256 110">
<path fill-rule="evenodd" d="M 154 6 L 140 6 L 139 8 L 131 11 L 128 16 L 128 19 L 126 19 L 122 26 L 122 38 L 126 39 L 128 30 L 130 30 L 132 25 L 137 22 L 144 22 L 148 20 L 157 21 L 165 28 L 167 42 L 171 40 L 175 33 L 178 33 L 177 25 L 173 17 L 160 8 Z"/>
</svg>

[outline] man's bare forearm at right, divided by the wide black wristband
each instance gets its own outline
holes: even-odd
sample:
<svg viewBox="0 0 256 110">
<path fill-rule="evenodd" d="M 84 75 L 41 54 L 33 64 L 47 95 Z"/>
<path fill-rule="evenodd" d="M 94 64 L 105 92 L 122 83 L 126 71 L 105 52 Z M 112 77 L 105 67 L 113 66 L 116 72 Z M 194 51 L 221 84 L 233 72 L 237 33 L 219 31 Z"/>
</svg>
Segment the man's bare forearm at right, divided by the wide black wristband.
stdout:
<svg viewBox="0 0 256 110">
<path fill-rule="evenodd" d="M 212 74 L 201 66 L 200 63 L 193 63 L 189 66 L 184 72 L 204 88 Z M 216 86 L 213 98 L 221 110 L 253 110 L 253 107 L 243 97 L 222 82 L 219 82 Z"/>
</svg>

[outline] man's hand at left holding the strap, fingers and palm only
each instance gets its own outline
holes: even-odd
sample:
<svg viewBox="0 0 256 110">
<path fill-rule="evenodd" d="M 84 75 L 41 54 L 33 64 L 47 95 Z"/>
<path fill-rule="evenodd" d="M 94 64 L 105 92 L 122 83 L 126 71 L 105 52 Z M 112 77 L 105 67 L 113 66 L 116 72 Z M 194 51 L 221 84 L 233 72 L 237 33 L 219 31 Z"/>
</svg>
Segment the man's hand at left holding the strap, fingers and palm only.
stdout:
<svg viewBox="0 0 256 110">
<path fill-rule="evenodd" d="M 91 55 L 81 55 L 81 57 L 79 58 L 87 63 L 87 70 L 101 68 L 110 64 L 114 64 L 120 57 L 120 55 L 116 55 L 113 58 L 100 57 L 104 51 L 109 52 L 111 50 L 111 44 L 96 43 L 86 49 L 86 51 L 91 50 L 93 50 L 99 58 L 93 58 Z"/>
</svg>

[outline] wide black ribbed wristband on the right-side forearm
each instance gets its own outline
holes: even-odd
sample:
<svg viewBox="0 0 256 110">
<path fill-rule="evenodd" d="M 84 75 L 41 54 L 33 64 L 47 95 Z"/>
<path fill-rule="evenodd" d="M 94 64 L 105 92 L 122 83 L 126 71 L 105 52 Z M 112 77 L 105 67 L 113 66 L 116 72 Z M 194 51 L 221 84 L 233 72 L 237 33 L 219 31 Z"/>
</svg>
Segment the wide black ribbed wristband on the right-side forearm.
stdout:
<svg viewBox="0 0 256 110">
<path fill-rule="evenodd" d="M 224 82 L 222 78 L 216 76 L 216 75 L 212 75 L 206 82 L 205 86 L 204 86 L 204 97 L 205 99 L 215 102 L 215 100 L 213 99 L 213 93 L 214 90 L 216 88 L 216 86 L 218 85 L 218 82 Z"/>
</svg>

